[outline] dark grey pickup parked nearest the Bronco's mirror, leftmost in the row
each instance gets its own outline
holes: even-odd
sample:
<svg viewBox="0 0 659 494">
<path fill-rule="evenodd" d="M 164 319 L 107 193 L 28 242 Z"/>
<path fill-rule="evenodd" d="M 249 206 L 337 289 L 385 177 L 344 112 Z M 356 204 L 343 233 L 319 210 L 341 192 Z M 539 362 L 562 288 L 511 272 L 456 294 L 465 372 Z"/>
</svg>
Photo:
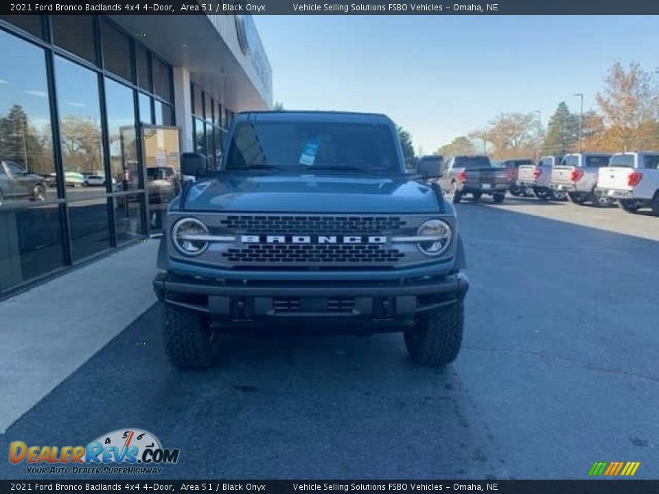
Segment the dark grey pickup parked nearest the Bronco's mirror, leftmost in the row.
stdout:
<svg viewBox="0 0 659 494">
<path fill-rule="evenodd" d="M 505 199 L 513 178 L 511 169 L 492 166 L 488 156 L 453 156 L 446 163 L 446 173 L 439 179 L 439 184 L 444 191 L 453 193 L 455 203 L 460 202 L 465 194 L 471 194 L 474 200 L 486 194 L 500 203 Z"/>
</svg>

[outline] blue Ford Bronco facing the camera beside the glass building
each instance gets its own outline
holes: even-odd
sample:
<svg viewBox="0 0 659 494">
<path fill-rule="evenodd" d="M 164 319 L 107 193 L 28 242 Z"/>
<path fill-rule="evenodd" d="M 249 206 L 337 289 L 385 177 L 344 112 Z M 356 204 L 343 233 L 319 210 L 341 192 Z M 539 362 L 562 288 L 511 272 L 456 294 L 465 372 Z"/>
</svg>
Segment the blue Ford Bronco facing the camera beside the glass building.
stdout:
<svg viewBox="0 0 659 494">
<path fill-rule="evenodd" d="M 154 291 L 165 353 L 216 362 L 225 331 L 402 331 L 413 362 L 444 366 L 469 281 L 436 169 L 406 174 L 393 121 L 338 112 L 235 116 L 217 171 L 184 153 Z M 432 163 L 431 163 L 432 164 Z M 421 176 L 423 175 L 423 176 Z"/>
</svg>

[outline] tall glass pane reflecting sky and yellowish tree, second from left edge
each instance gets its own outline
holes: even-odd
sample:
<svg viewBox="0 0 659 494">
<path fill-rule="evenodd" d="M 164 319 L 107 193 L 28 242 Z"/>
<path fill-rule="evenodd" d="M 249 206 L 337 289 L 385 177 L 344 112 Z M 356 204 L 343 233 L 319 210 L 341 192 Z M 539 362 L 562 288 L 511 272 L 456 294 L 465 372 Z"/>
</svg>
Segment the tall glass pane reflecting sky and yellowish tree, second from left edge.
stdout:
<svg viewBox="0 0 659 494">
<path fill-rule="evenodd" d="M 67 198 L 78 200 L 104 194 L 103 187 L 84 187 L 86 177 L 105 174 L 98 76 L 56 57 L 55 80 Z"/>
</svg>

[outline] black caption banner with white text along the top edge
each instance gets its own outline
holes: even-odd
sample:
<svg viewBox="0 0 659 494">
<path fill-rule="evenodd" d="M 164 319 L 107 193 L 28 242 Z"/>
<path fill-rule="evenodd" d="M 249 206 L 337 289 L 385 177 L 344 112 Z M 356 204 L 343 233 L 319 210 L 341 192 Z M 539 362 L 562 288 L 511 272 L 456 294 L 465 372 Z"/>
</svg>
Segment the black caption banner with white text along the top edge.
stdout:
<svg viewBox="0 0 659 494">
<path fill-rule="evenodd" d="M 654 0 L 66 0 L 1 3 L 0 14 L 632 15 L 659 14 Z M 586 22 L 586 21 L 585 21 Z"/>
</svg>

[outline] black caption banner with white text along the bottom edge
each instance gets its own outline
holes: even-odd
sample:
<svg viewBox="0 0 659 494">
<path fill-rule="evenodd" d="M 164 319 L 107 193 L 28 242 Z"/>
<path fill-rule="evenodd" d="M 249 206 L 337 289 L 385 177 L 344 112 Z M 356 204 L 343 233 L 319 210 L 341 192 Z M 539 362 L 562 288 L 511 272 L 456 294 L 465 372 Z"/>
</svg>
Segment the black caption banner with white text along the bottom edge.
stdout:
<svg viewBox="0 0 659 494">
<path fill-rule="evenodd" d="M 0 494 L 60 492 L 264 494 L 655 494 L 659 480 L 0 480 Z"/>
</svg>

